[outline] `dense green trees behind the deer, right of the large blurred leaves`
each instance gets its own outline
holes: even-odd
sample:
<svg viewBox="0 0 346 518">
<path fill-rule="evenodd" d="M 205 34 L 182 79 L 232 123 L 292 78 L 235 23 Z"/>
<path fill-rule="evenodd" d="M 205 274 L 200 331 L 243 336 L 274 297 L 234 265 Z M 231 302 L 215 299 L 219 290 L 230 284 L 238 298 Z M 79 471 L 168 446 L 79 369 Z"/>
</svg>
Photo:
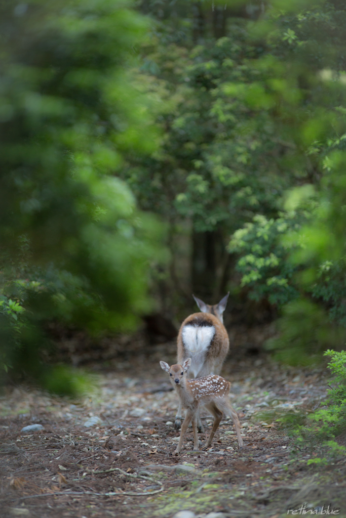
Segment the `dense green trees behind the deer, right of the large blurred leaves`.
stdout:
<svg viewBox="0 0 346 518">
<path fill-rule="evenodd" d="M 157 19 L 142 73 L 144 89 L 161 99 L 164 140 L 151 159 L 130 161 L 126 177 L 141 206 L 169 222 L 168 278 L 184 229 L 192 290 L 216 298 L 232 288 L 235 261 L 248 297 L 268 301 L 272 315 L 303 297 L 305 329 L 313 307 L 327 311 L 321 333 L 340 347 L 343 3 L 226 2 L 222 33 L 221 3 L 142 5 Z M 280 340 L 275 347 L 296 343 L 299 356 L 301 341 Z M 310 352 L 325 347 L 311 343 Z"/>
</svg>

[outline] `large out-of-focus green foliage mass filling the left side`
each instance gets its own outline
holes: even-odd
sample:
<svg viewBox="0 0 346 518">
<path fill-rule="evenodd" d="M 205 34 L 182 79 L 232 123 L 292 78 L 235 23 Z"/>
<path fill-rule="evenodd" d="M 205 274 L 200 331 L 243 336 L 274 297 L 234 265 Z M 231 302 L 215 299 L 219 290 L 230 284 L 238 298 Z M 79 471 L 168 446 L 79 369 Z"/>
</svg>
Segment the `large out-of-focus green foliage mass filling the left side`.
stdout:
<svg viewBox="0 0 346 518">
<path fill-rule="evenodd" d="M 0 4 L 1 360 L 41 381 L 47 320 L 129 329 L 151 304 L 163 228 L 116 176 L 158 143 L 131 75 L 147 29 L 122 0 Z"/>
</svg>

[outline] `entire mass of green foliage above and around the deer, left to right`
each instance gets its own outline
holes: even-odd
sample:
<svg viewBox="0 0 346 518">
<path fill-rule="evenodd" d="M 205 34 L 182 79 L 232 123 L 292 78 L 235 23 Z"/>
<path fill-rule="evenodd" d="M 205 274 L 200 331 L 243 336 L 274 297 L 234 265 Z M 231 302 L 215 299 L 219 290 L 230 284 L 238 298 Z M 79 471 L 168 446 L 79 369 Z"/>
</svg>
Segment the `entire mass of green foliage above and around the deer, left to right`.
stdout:
<svg viewBox="0 0 346 518">
<path fill-rule="evenodd" d="M 135 6 L 0 4 L 1 361 L 40 379 L 47 321 L 129 329 L 233 265 L 278 358 L 340 348 L 344 3 Z"/>
</svg>

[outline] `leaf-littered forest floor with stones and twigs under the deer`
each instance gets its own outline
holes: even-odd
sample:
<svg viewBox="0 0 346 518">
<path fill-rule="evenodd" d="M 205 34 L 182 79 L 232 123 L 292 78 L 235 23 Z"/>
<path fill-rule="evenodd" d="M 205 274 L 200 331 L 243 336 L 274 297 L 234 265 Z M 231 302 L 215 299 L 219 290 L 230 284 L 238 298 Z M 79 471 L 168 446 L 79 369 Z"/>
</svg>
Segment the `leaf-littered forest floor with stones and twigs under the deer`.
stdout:
<svg viewBox="0 0 346 518">
<path fill-rule="evenodd" d="M 287 409 L 320 404 L 323 369 L 230 354 L 223 375 L 231 381 L 244 447 L 232 422 L 222 421 L 203 450 L 212 424 L 205 413 L 201 449 L 192 451 L 189 429 L 174 455 L 177 396 L 160 359 L 174 363 L 173 343 L 99 371 L 91 395 L 79 400 L 8 389 L 0 398 L 0 516 L 171 518 L 189 510 L 202 518 L 279 518 L 288 510 L 304 514 L 305 504 L 314 514 L 327 515 L 329 506 L 329 515 L 346 516 L 345 463 L 307 466 L 310 456 L 272 421 Z M 94 424 L 86 426 L 88 420 Z M 43 429 L 21 433 L 31 424 Z"/>
</svg>

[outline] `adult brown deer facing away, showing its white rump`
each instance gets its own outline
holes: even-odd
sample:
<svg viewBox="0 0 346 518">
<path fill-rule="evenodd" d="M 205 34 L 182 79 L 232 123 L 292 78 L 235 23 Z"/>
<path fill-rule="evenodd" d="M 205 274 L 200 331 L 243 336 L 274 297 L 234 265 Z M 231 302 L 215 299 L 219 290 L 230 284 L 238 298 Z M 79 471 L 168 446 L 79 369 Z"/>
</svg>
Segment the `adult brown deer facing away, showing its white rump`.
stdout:
<svg viewBox="0 0 346 518">
<path fill-rule="evenodd" d="M 191 358 L 189 367 L 191 378 L 219 374 L 221 370 L 229 349 L 228 334 L 223 321 L 228 295 L 229 292 L 214 306 L 209 306 L 192 295 L 201 313 L 192 313 L 184 320 L 177 339 L 177 362 L 183 365 L 187 358 Z M 198 431 L 204 431 L 199 412 L 196 417 Z M 178 430 L 181 424 L 182 401 L 180 400 L 175 416 L 175 429 Z"/>
</svg>

